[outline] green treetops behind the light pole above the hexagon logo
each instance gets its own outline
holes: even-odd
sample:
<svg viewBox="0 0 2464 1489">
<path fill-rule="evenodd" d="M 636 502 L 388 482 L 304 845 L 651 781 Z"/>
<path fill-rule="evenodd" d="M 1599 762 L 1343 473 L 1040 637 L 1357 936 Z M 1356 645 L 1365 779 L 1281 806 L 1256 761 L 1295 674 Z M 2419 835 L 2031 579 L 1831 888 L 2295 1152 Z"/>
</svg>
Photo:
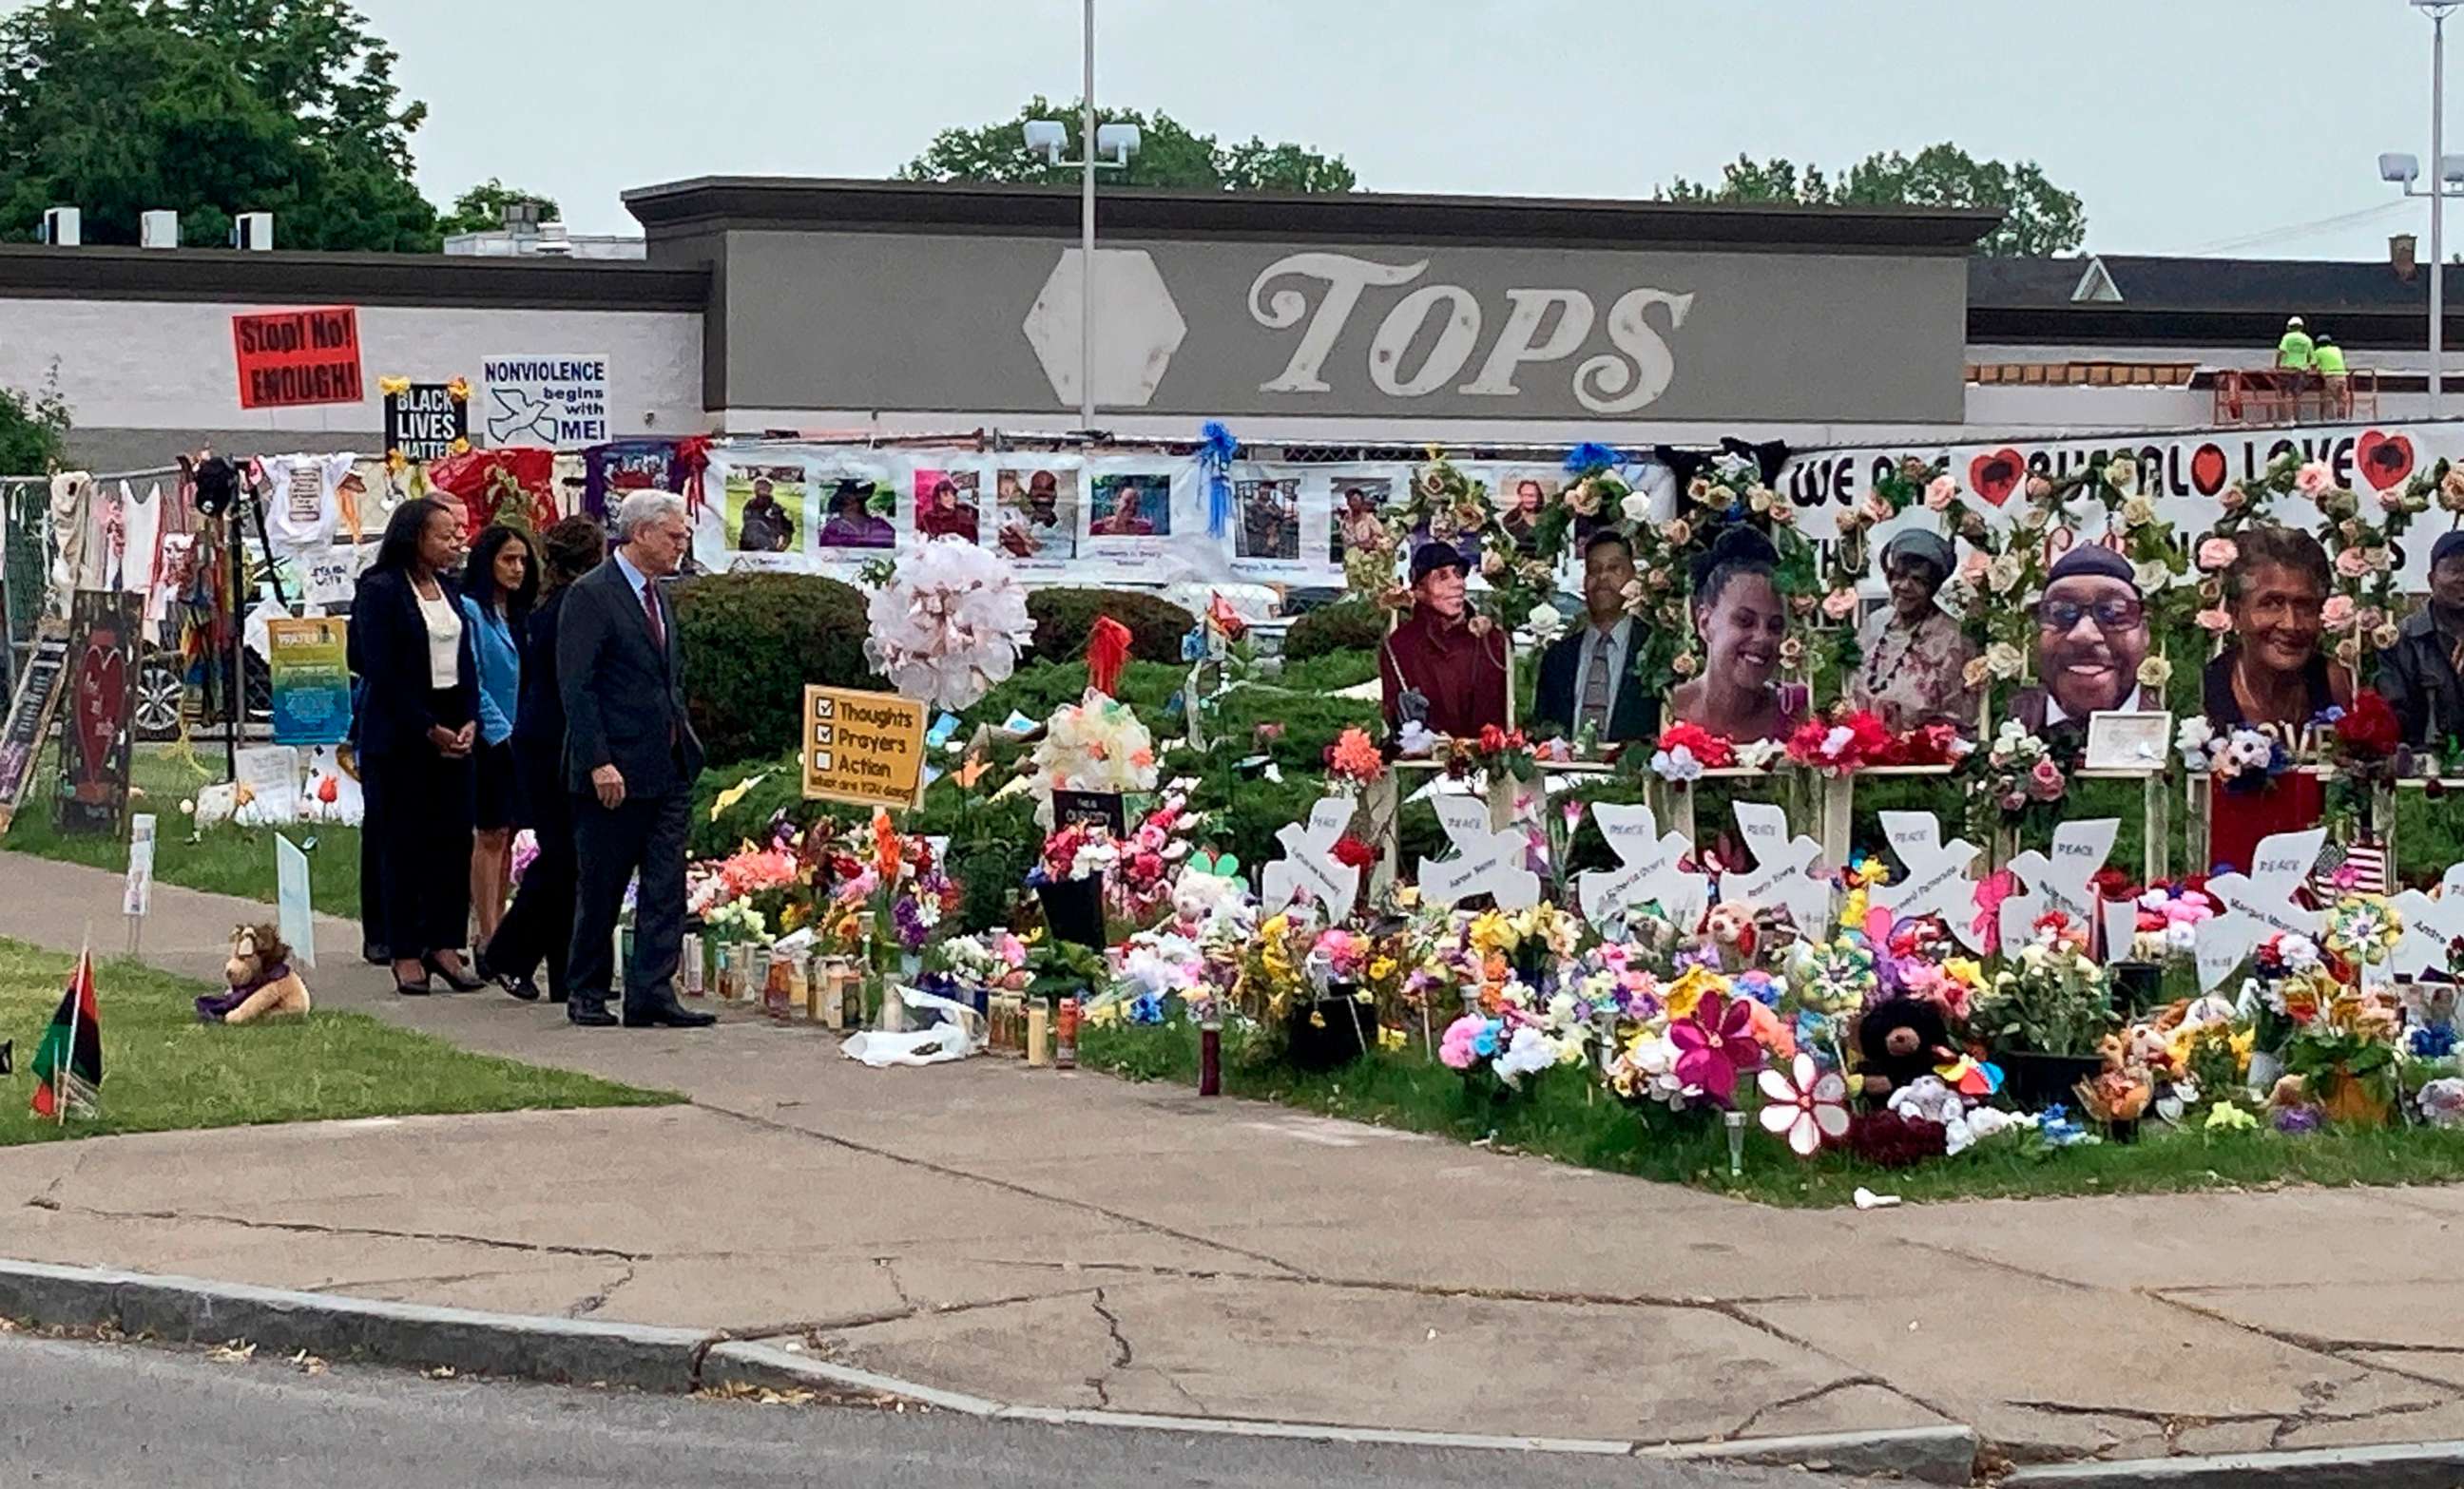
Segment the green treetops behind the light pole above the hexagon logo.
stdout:
<svg viewBox="0 0 2464 1489">
<path fill-rule="evenodd" d="M 1015 118 L 981 128 L 946 128 L 931 138 L 922 155 L 899 167 L 899 180 L 909 182 L 1015 182 L 1015 185 L 1074 185 L 1079 172 L 1067 165 L 1047 165 L 1042 155 L 1027 150 L 1025 126 L 1030 118 L 1055 118 L 1067 130 L 1064 160 L 1079 153 L 1079 103 L 1055 103 L 1037 94 Z M 1141 113 L 1136 108 L 1096 106 L 1096 123 L 1138 126 L 1138 153 L 1129 158 L 1129 170 L 1106 170 L 1106 187 L 1178 187 L 1193 192 L 1350 192 L 1358 187 L 1353 167 L 1340 155 L 1318 155 L 1306 145 L 1252 138 L 1249 143 L 1222 145 L 1215 135 L 1200 135 L 1168 113 Z"/>
</svg>

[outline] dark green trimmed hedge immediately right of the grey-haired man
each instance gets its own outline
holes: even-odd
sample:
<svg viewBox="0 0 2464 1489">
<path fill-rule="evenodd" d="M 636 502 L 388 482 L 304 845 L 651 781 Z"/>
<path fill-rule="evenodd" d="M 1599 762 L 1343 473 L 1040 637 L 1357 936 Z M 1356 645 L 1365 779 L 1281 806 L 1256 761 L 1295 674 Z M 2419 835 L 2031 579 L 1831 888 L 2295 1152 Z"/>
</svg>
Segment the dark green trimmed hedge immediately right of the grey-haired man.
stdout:
<svg viewBox="0 0 2464 1489">
<path fill-rule="evenodd" d="M 803 684 L 882 687 L 865 596 L 818 573 L 705 573 L 675 586 L 685 701 L 712 765 L 796 746 Z"/>
</svg>

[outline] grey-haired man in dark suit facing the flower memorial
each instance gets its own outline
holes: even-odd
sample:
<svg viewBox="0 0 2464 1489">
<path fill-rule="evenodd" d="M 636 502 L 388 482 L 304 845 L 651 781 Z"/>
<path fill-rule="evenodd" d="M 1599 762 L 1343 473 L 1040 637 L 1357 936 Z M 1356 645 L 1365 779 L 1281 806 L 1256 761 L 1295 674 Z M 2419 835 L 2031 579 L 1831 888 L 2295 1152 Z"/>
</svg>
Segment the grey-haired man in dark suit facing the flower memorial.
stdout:
<svg viewBox="0 0 2464 1489">
<path fill-rule="evenodd" d="M 685 719 L 675 613 L 658 581 L 692 546 L 685 500 L 633 492 L 616 507 L 618 546 L 564 596 L 557 689 L 564 694 L 564 785 L 574 792 L 574 950 L 564 1016 L 606 1026 L 616 970 L 616 913 L 636 871 L 633 955 L 623 970 L 623 1026 L 700 1029 L 675 1002 L 685 938 L 685 829 L 702 741 Z"/>
</svg>

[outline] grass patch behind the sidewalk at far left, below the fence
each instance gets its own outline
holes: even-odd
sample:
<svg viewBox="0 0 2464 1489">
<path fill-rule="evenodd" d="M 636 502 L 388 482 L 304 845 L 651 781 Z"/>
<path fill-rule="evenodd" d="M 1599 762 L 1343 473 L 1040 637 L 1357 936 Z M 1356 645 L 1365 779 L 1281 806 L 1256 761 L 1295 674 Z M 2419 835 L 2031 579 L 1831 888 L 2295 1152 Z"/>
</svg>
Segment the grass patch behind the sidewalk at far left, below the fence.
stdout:
<svg viewBox="0 0 2464 1489">
<path fill-rule="evenodd" d="M 207 775 L 200 775 L 197 768 Z M 155 879 L 182 888 L 232 893 L 274 906 L 274 829 L 271 827 L 209 827 L 200 842 L 190 842 L 190 820 L 180 815 L 182 800 L 195 800 L 197 788 L 224 780 L 222 746 L 197 746 L 197 765 L 185 763 L 175 746 L 140 743 L 131 770 L 128 812 L 155 815 Z M 96 869 L 126 869 L 126 837 L 62 837 L 52 827 L 52 783 L 59 765 L 47 751 L 34 765 L 34 788 L 10 822 L 0 847 L 67 864 L 91 864 Z M 301 822 L 283 827 L 283 837 L 308 854 L 308 896 L 328 916 L 360 918 L 360 829 Z M 271 911 L 269 911 L 271 913 Z"/>
</svg>

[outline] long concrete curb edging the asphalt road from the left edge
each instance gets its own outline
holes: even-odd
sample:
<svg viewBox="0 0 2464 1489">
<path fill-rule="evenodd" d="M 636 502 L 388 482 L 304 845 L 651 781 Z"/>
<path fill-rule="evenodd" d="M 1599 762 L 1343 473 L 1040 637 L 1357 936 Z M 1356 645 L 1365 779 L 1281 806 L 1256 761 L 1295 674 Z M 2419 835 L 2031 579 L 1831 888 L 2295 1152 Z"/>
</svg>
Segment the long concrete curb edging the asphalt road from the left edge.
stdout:
<svg viewBox="0 0 2464 1489">
<path fill-rule="evenodd" d="M 62 1329 L 111 1327 L 121 1334 L 145 1334 L 182 1344 L 249 1339 L 278 1354 L 306 1349 L 325 1359 L 384 1366 L 451 1366 L 480 1376 L 631 1386 L 665 1393 L 732 1383 L 806 1388 L 823 1395 L 897 1398 L 983 1420 L 1057 1427 L 1131 1427 L 1146 1432 L 1284 1437 L 1382 1447 L 1794 1464 L 1850 1474 L 1900 1474 L 1927 1484 L 1966 1484 L 1976 1459 L 1976 1432 L 1969 1427 L 1671 1445 L 1005 1405 L 700 1329 L 493 1314 L 333 1292 L 291 1292 L 244 1282 L 123 1272 L 116 1267 L 62 1267 L 52 1263 L 0 1260 L 0 1317 Z M 2353 1459 L 2356 1455 L 2287 1457 Z M 2444 1462 L 2464 1459 L 2449 1457 Z M 2129 1464 L 2092 1467 L 2104 1474 L 2126 1469 Z M 2190 1484 L 2190 1479 L 2181 1482 Z M 2373 1484 L 2388 1482 L 2385 1477 L 2373 1479 Z"/>
</svg>

